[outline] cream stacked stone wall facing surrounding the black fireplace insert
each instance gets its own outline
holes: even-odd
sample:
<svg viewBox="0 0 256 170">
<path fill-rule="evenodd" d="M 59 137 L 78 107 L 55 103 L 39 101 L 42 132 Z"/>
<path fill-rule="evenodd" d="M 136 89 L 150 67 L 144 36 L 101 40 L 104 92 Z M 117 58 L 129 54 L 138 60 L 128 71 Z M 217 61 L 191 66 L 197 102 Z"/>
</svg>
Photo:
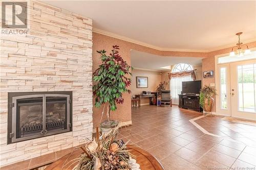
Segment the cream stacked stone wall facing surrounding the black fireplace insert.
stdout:
<svg viewBox="0 0 256 170">
<path fill-rule="evenodd" d="M 1 166 L 92 138 L 92 20 L 29 2 L 29 33 L 1 37 Z M 73 91 L 73 132 L 7 144 L 8 92 Z"/>
</svg>

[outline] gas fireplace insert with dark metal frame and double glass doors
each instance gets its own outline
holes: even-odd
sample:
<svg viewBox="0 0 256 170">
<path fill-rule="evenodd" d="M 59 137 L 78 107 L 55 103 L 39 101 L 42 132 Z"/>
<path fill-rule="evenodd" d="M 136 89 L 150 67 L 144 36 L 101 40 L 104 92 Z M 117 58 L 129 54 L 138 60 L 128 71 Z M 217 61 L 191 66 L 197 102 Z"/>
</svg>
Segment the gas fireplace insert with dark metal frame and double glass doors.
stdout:
<svg viewBox="0 0 256 170">
<path fill-rule="evenodd" d="M 70 105 L 70 94 L 31 94 L 12 96 L 11 98 L 12 122 L 9 142 L 71 130 L 70 106 L 72 105 Z"/>
</svg>

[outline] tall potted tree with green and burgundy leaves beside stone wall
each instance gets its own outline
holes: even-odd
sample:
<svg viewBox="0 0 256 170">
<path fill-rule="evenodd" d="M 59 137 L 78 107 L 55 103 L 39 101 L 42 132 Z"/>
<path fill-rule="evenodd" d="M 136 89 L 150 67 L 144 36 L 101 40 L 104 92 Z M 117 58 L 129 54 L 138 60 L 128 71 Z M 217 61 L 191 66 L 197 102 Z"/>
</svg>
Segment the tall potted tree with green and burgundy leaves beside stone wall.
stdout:
<svg viewBox="0 0 256 170">
<path fill-rule="evenodd" d="M 110 56 L 106 55 L 105 50 L 97 51 L 101 55 L 101 65 L 99 68 L 93 72 L 93 95 L 95 96 L 95 107 L 99 108 L 103 106 L 103 111 L 101 115 L 104 114 L 106 107 L 107 120 L 101 123 L 100 119 L 100 129 L 101 132 L 108 132 L 111 128 L 118 125 L 117 120 L 110 119 L 110 111 L 117 109 L 117 104 L 123 104 L 124 99 L 122 98 L 122 93 L 129 92 L 131 90 L 127 89 L 131 85 L 131 66 L 126 63 L 119 55 L 119 46 L 114 45 L 112 53 Z"/>
</svg>

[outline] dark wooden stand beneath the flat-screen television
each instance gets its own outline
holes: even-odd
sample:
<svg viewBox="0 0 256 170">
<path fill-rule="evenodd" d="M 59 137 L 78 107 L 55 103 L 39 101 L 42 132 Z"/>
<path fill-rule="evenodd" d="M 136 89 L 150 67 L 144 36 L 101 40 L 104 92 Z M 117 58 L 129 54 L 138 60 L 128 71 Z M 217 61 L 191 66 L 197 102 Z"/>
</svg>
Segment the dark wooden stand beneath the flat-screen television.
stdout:
<svg viewBox="0 0 256 170">
<path fill-rule="evenodd" d="M 179 94 L 179 108 L 191 109 L 202 112 L 203 109 L 200 107 L 199 100 L 199 95 Z"/>
</svg>

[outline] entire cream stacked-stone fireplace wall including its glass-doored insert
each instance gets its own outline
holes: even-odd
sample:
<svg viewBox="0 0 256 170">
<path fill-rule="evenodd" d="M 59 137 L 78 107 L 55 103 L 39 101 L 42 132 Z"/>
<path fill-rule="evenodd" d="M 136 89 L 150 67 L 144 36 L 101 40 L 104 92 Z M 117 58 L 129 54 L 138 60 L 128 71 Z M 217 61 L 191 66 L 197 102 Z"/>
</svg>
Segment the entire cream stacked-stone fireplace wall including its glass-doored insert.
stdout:
<svg viewBox="0 0 256 170">
<path fill-rule="evenodd" d="M 92 20 L 39 1 L 28 8 L 28 34 L 1 36 L 1 166 L 92 138 Z"/>
</svg>

